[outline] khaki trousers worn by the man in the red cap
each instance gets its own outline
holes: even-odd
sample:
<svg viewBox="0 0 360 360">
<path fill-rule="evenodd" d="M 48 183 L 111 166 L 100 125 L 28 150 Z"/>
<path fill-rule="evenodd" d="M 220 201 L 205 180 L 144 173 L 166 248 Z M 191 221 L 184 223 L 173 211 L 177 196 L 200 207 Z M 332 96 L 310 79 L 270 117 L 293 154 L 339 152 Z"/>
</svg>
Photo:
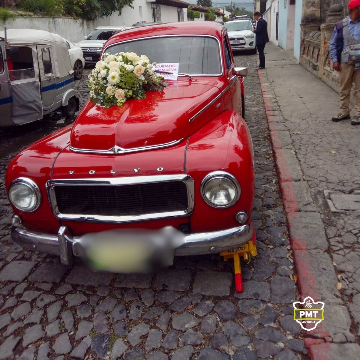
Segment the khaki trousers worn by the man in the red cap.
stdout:
<svg viewBox="0 0 360 360">
<path fill-rule="evenodd" d="M 340 112 L 350 114 L 350 91 L 352 82 L 355 82 L 355 109 L 354 115 L 360 116 L 360 70 L 355 71 L 354 65 L 341 64 L 340 79 Z"/>
</svg>

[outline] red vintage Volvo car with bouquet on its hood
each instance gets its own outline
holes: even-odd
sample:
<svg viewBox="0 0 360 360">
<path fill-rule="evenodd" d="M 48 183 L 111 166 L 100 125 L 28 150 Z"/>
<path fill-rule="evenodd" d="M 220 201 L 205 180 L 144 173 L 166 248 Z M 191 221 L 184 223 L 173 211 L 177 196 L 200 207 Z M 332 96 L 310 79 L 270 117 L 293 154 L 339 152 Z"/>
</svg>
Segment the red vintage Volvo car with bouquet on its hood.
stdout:
<svg viewBox="0 0 360 360">
<path fill-rule="evenodd" d="M 89 99 L 73 125 L 12 160 L 13 240 L 63 264 L 78 256 L 118 272 L 255 244 L 247 69 L 235 66 L 226 29 L 139 27 L 109 39 L 102 55 L 120 51 L 179 63 L 178 74 L 122 107 Z"/>
</svg>

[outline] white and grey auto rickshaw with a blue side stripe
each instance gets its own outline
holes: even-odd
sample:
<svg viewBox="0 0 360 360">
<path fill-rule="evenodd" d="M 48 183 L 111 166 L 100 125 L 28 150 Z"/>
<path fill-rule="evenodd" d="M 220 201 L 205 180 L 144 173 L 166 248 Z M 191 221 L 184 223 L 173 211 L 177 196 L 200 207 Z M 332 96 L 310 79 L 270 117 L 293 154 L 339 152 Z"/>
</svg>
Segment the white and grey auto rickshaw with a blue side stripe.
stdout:
<svg viewBox="0 0 360 360">
<path fill-rule="evenodd" d="M 79 100 L 66 42 L 48 31 L 0 31 L 0 127 L 40 120 L 61 108 L 74 116 Z"/>
</svg>

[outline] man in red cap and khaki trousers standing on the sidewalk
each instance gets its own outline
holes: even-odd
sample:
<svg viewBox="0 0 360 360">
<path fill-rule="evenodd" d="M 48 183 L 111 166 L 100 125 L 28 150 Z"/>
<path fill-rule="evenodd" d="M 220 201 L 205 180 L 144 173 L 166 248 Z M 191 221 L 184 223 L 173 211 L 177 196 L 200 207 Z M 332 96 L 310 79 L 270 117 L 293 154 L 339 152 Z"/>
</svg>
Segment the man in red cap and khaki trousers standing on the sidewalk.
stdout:
<svg viewBox="0 0 360 360">
<path fill-rule="evenodd" d="M 359 49 L 360 57 L 360 0 L 348 3 L 349 16 L 336 23 L 330 39 L 330 60 L 333 69 L 339 71 L 340 112 L 332 121 L 350 119 L 350 91 L 355 82 L 355 109 L 351 125 L 360 125 L 360 62 L 349 58 L 351 49 Z"/>
</svg>

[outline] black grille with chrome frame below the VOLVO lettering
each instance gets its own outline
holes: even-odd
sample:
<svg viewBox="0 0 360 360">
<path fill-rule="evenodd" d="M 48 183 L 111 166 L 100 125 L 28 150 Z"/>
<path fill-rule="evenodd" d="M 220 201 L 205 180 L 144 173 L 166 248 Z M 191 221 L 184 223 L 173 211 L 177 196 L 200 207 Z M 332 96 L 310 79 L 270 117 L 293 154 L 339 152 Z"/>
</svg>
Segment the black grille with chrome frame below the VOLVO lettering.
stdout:
<svg viewBox="0 0 360 360">
<path fill-rule="evenodd" d="M 127 222 L 185 216 L 194 202 L 188 175 L 50 180 L 47 188 L 59 219 Z"/>
</svg>

